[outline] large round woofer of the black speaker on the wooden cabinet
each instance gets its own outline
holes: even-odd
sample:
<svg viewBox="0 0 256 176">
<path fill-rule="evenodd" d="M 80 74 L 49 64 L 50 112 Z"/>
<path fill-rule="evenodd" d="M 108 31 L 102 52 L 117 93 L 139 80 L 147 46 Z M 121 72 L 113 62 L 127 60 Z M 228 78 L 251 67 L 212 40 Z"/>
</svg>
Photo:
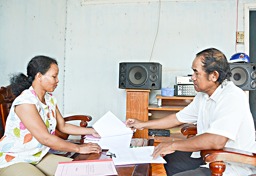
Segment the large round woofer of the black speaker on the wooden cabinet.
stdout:
<svg viewBox="0 0 256 176">
<path fill-rule="evenodd" d="M 147 81 L 147 72 L 141 66 L 134 66 L 128 73 L 128 78 L 132 85 L 141 86 Z"/>
</svg>

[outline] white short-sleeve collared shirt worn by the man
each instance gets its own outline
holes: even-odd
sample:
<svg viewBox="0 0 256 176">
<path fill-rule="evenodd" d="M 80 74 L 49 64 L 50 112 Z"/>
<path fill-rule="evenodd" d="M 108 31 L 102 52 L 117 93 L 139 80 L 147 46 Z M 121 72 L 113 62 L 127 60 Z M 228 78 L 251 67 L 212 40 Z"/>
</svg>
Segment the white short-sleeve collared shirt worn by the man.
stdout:
<svg viewBox="0 0 256 176">
<path fill-rule="evenodd" d="M 232 81 L 224 81 L 210 97 L 200 92 L 176 116 L 180 122 L 197 124 L 198 135 L 221 135 L 228 138 L 225 147 L 256 153 L 255 127 L 249 101 L 245 92 Z"/>
</svg>

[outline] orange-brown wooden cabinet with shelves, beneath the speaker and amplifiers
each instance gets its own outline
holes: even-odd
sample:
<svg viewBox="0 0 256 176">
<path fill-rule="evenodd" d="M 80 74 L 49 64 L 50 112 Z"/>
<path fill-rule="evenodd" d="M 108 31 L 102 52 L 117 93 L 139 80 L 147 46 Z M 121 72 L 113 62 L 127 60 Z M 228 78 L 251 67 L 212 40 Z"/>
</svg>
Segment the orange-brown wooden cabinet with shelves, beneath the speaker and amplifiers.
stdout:
<svg viewBox="0 0 256 176">
<path fill-rule="evenodd" d="M 194 97 L 163 97 L 157 95 L 157 104 L 148 104 L 150 90 L 142 89 L 125 89 L 127 91 L 127 108 L 126 118 L 138 118 L 142 121 L 154 120 L 156 118 L 163 118 L 166 115 L 177 113 L 188 104 L 190 104 Z M 150 114 L 150 116 L 148 116 Z M 185 124 L 186 125 L 186 124 Z M 148 130 L 137 130 L 135 138 L 154 138 L 154 145 L 161 141 L 173 141 L 186 138 L 180 133 L 180 127 L 174 127 L 170 130 L 170 137 L 164 136 L 148 136 Z"/>
</svg>

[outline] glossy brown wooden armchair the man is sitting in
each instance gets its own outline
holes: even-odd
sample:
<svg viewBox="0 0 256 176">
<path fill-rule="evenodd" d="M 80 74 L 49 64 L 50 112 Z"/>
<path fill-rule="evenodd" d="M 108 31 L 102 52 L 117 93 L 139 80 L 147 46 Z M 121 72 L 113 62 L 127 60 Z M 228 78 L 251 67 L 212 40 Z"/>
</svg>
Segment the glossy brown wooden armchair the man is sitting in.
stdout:
<svg viewBox="0 0 256 176">
<path fill-rule="evenodd" d="M 186 126 L 181 129 L 181 133 L 187 138 L 197 134 L 196 125 Z M 224 162 L 239 162 L 256 166 L 256 153 L 224 147 L 221 150 L 202 150 L 200 152 L 204 162 L 209 163 L 212 176 L 222 176 L 226 165 Z M 256 175 L 250 175 L 256 176 Z"/>
</svg>

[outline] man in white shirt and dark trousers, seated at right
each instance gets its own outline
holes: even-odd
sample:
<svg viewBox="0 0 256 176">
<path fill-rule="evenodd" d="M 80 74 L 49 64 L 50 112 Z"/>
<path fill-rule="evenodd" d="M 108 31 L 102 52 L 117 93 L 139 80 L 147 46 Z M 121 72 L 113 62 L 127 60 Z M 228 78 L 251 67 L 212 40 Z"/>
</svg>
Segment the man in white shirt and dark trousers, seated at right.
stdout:
<svg viewBox="0 0 256 176">
<path fill-rule="evenodd" d="M 151 155 L 164 156 L 168 176 L 210 176 L 201 158 L 201 150 L 231 147 L 256 153 L 255 127 L 249 101 L 242 89 L 230 81 L 227 58 L 218 49 L 199 52 L 192 64 L 195 90 L 200 92 L 192 103 L 176 114 L 140 121 L 129 118 L 133 130 L 168 129 L 185 123 L 197 124 L 198 135 L 189 139 L 161 142 Z M 197 153 L 195 153 L 197 152 Z M 193 153 L 193 154 L 192 154 Z M 224 176 L 248 176 L 254 169 L 226 163 Z"/>
</svg>

